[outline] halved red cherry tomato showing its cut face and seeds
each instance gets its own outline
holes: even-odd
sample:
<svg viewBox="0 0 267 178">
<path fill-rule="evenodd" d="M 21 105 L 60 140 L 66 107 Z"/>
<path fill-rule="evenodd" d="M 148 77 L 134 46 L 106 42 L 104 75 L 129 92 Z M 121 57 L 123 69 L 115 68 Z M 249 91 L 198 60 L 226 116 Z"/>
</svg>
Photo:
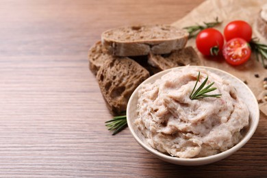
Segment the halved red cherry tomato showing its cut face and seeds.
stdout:
<svg viewBox="0 0 267 178">
<path fill-rule="evenodd" d="M 251 56 L 248 42 L 242 38 L 233 38 L 223 47 L 223 56 L 226 62 L 233 66 L 243 64 Z"/>
</svg>

